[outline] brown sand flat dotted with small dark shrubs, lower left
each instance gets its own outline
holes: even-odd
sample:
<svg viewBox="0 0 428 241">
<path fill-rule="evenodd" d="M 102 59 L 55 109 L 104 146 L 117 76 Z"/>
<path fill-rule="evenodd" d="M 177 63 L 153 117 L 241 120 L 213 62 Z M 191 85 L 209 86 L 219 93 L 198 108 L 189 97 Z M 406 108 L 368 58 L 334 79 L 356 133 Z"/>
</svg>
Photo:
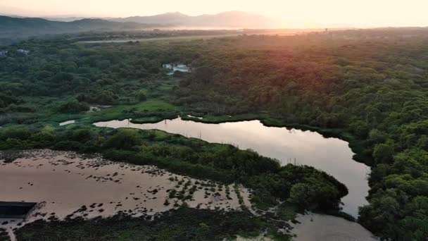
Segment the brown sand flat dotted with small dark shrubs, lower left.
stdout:
<svg viewBox="0 0 428 241">
<path fill-rule="evenodd" d="M 155 166 L 112 162 L 99 156 L 84 158 L 73 152 L 36 150 L 24 156 L 12 163 L 0 161 L 0 200 L 37 202 L 38 208 L 25 221 L 1 225 L 5 221 L 2 220 L 0 227 L 3 228 L 17 228 L 40 218 L 63 220 L 120 213 L 150 219 L 182 204 L 177 197 L 169 197 L 172 190 L 190 195 L 191 199 L 185 201 L 190 207 L 241 209 L 234 185 L 227 188 Z M 191 187 L 193 194 L 189 191 Z M 244 204 L 251 205 L 249 191 L 241 186 L 238 190 Z"/>
</svg>

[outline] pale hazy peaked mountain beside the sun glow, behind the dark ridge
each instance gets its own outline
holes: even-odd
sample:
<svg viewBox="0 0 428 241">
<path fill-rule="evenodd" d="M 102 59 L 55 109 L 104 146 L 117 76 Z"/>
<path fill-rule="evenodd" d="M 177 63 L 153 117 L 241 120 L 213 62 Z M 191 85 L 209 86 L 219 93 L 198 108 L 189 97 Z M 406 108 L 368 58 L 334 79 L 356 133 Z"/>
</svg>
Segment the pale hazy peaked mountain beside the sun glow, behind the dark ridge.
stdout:
<svg viewBox="0 0 428 241">
<path fill-rule="evenodd" d="M 164 13 L 155 16 L 134 16 L 129 18 L 110 18 L 117 22 L 135 22 L 145 24 L 174 25 L 176 27 L 239 27 L 239 28 L 272 28 L 279 23 L 264 16 L 230 11 L 214 15 L 187 16 L 183 13 Z"/>
</svg>

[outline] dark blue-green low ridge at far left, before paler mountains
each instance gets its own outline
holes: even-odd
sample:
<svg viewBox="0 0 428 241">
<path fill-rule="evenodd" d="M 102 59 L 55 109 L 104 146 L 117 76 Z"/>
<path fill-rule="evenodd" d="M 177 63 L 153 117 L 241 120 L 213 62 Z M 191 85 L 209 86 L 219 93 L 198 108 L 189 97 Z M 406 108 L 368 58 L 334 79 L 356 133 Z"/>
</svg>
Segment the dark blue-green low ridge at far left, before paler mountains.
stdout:
<svg viewBox="0 0 428 241">
<path fill-rule="evenodd" d="M 2 38 L 19 38 L 68 32 L 139 30 L 154 27 L 160 27 L 160 25 L 128 22 L 118 23 L 109 20 L 89 18 L 71 22 L 60 22 L 43 18 L 13 18 L 0 16 L 0 36 Z"/>
</svg>

